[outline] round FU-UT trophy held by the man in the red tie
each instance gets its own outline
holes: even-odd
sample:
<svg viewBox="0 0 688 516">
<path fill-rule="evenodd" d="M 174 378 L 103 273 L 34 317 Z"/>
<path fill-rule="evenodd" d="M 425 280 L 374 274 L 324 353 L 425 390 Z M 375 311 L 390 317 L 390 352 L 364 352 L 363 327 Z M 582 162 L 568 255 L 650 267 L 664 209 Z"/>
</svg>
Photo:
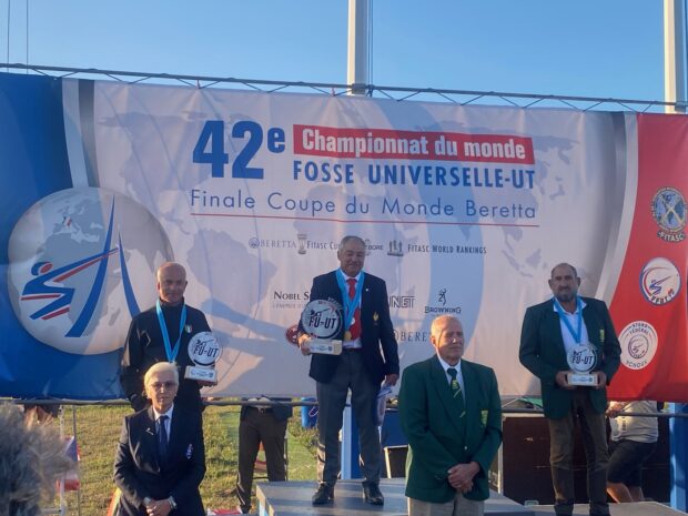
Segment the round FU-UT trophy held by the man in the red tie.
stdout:
<svg viewBox="0 0 688 516">
<path fill-rule="evenodd" d="M 313 300 L 301 313 L 301 324 L 308 335 L 311 353 L 342 354 L 342 341 L 334 337 L 342 331 L 342 305 L 334 300 Z"/>
</svg>

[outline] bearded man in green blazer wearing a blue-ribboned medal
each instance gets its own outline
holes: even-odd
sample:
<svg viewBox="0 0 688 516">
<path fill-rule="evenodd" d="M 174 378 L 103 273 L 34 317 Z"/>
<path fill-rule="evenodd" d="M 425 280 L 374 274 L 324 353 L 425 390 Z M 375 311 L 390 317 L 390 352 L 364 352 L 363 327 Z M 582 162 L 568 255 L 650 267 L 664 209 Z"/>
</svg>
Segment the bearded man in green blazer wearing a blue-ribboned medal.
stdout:
<svg viewBox="0 0 688 516">
<path fill-rule="evenodd" d="M 555 513 L 570 516 L 574 510 L 574 428 L 583 432 L 588 461 L 588 497 L 591 516 L 609 514 L 606 493 L 607 391 L 620 363 L 621 348 L 607 305 L 579 297 L 580 279 L 573 265 L 560 263 L 552 270 L 549 287 L 554 297 L 526 311 L 520 333 L 520 363 L 540 380 L 543 407 L 549 426 L 549 463 L 555 492 Z M 589 344 L 596 357 L 589 386 L 570 383 L 568 356 L 580 344 Z"/>
</svg>

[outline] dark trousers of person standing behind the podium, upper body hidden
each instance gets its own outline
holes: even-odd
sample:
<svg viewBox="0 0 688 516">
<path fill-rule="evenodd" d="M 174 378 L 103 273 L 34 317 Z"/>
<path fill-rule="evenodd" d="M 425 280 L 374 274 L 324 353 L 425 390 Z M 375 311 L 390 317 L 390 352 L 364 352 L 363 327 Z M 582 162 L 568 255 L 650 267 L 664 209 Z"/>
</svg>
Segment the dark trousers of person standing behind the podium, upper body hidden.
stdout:
<svg viewBox="0 0 688 516">
<path fill-rule="evenodd" d="M 239 475 L 236 477 L 236 496 L 244 513 L 251 510 L 253 468 L 261 443 L 265 451 L 267 479 L 270 482 L 286 479 L 285 433 L 286 419 L 277 421 L 272 409 L 264 409 L 264 412 L 255 407 L 245 409 L 245 415 L 239 423 Z"/>
</svg>

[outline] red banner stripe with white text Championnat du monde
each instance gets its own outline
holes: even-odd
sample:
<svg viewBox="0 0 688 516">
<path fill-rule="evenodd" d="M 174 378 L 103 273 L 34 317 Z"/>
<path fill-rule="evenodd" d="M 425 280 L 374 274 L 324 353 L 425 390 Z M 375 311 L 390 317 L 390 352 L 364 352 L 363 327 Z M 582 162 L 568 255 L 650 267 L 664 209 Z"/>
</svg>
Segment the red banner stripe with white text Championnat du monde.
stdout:
<svg viewBox="0 0 688 516">
<path fill-rule="evenodd" d="M 533 140 L 514 134 L 294 125 L 294 154 L 533 164 Z"/>
</svg>

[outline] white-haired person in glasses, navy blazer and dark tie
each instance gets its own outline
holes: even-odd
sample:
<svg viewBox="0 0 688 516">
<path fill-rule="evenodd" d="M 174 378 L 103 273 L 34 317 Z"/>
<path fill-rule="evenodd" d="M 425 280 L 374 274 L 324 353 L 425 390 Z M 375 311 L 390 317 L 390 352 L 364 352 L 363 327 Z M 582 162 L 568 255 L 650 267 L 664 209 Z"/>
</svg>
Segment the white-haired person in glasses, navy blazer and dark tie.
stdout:
<svg viewBox="0 0 688 516">
<path fill-rule="evenodd" d="M 114 459 L 114 483 L 122 492 L 118 514 L 203 516 L 201 414 L 174 405 L 179 373 L 172 363 L 154 364 L 144 386 L 152 406 L 124 417 Z"/>
</svg>

